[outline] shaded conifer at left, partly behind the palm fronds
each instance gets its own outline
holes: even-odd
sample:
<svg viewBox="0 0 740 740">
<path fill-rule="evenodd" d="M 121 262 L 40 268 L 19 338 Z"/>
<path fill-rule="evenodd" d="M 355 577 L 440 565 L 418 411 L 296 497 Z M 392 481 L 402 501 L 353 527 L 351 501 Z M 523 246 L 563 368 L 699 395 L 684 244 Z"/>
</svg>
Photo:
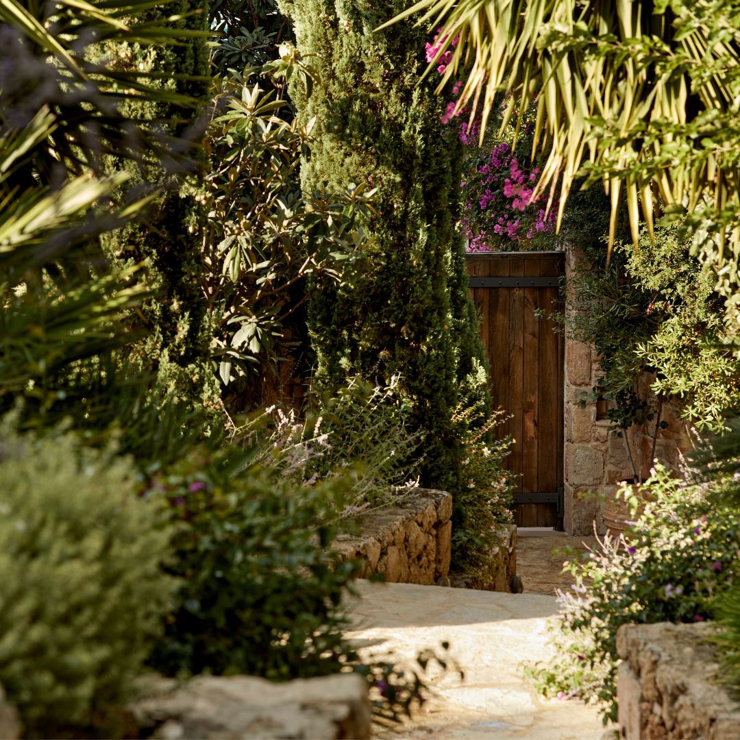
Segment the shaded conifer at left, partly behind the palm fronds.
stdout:
<svg viewBox="0 0 740 740">
<path fill-rule="evenodd" d="M 208 11 L 205 0 L 175 0 L 152 7 L 148 17 L 139 20 L 175 31 L 206 32 Z M 166 47 L 124 44 L 112 50 L 115 63 L 157 75 L 166 90 L 190 98 L 189 104 L 127 101 L 121 112 L 132 120 L 149 121 L 175 158 L 190 159 L 191 171 L 184 177 L 183 161 L 175 164 L 175 158 L 149 158 L 139 165 L 112 158 L 112 169 L 133 170 L 129 182 L 157 186 L 162 192 L 144 218 L 108 235 L 104 247 L 121 263 L 144 262 L 144 279 L 156 292 L 141 314 L 132 317 L 132 329 L 146 330 L 147 338 L 130 359 L 154 371 L 162 389 L 215 405 L 218 386 L 209 363 L 211 332 L 199 279 L 207 221 L 200 197 L 206 166 L 200 149 L 204 124 L 198 118 L 209 92 L 209 40 L 183 35 L 178 41 Z"/>
</svg>

